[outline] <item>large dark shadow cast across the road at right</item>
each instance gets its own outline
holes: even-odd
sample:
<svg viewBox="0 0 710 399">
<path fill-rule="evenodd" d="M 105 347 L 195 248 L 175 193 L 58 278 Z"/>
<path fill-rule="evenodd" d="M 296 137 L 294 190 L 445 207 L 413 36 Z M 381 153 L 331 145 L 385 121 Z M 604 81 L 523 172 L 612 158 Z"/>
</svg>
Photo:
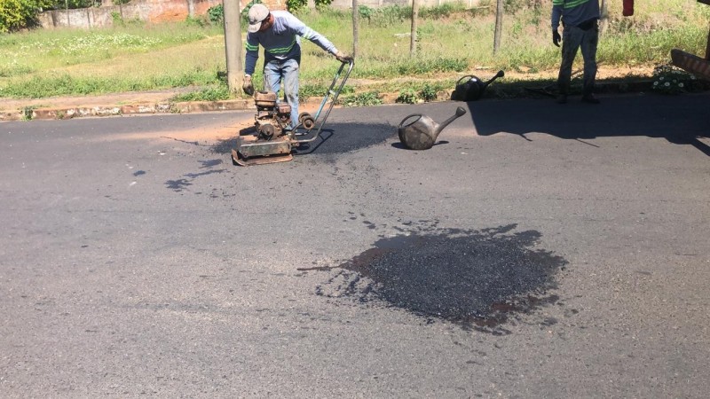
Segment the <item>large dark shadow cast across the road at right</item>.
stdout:
<svg viewBox="0 0 710 399">
<path fill-rule="evenodd" d="M 482 100 L 466 104 L 479 136 L 509 133 L 525 137 L 546 133 L 565 139 L 596 137 L 662 137 L 678 145 L 693 145 L 710 156 L 710 146 L 698 138 L 710 137 L 710 96 L 635 94 L 601 97 L 602 104 L 567 104 L 553 99 L 516 101 Z M 525 137 L 527 138 L 527 137 Z"/>
</svg>

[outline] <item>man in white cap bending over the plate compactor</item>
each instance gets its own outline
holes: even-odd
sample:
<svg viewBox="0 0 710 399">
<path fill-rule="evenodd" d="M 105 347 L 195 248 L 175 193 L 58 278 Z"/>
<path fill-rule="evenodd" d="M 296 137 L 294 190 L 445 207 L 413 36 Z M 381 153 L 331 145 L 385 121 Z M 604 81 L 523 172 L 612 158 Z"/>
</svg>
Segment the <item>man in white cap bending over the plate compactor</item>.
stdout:
<svg viewBox="0 0 710 399">
<path fill-rule="evenodd" d="M 321 49 L 335 56 L 341 62 L 352 58 L 335 48 L 323 35 L 307 27 L 301 20 L 287 11 L 270 12 L 264 4 L 254 4 L 248 12 L 247 56 L 242 90 L 254 94 L 251 75 L 254 74 L 256 60 L 259 59 L 259 44 L 264 47 L 264 90 L 279 92 L 284 83 L 284 98 L 291 106 L 291 126 L 298 124 L 298 71 L 301 64 L 301 37 L 316 43 Z"/>
</svg>

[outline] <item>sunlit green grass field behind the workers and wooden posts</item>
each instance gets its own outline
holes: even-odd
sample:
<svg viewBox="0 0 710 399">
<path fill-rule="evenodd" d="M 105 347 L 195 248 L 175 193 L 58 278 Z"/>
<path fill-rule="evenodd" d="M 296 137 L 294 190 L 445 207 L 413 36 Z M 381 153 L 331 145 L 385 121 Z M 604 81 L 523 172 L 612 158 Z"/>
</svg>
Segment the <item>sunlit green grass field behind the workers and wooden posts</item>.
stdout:
<svg viewBox="0 0 710 399">
<path fill-rule="evenodd" d="M 597 59 L 605 67 L 666 64 L 673 48 L 704 55 L 710 6 L 695 0 L 637 2 L 635 16 L 621 17 L 621 3 L 610 2 L 609 20 Z M 501 48 L 493 54 L 494 2 L 474 9 L 461 4 L 423 8 L 416 53 L 410 56 L 408 7 L 361 8 L 356 67 L 345 97 L 354 104 L 372 101 L 373 92 L 420 93 L 453 88 L 461 75 L 523 74 L 505 82 L 553 74 L 559 49 L 552 45 L 549 0 L 510 0 Z M 326 35 L 340 50 L 351 51 L 350 11 L 304 10 L 304 22 Z M 346 28 L 343 28 L 346 27 Z M 242 40 L 246 34 L 242 34 Z M 0 35 L 0 97 L 46 98 L 122 91 L 196 88 L 190 99 L 229 98 L 225 90 L 225 40 L 222 27 L 191 23 L 93 30 L 34 30 Z M 302 98 L 320 97 L 339 64 L 304 41 Z M 578 57 L 581 66 L 581 57 Z M 525 71 L 527 71 L 526 74 Z M 261 76 L 255 74 L 258 87 Z M 411 97 L 411 96 L 410 96 Z M 344 101 L 344 98 L 343 98 Z"/>
</svg>

